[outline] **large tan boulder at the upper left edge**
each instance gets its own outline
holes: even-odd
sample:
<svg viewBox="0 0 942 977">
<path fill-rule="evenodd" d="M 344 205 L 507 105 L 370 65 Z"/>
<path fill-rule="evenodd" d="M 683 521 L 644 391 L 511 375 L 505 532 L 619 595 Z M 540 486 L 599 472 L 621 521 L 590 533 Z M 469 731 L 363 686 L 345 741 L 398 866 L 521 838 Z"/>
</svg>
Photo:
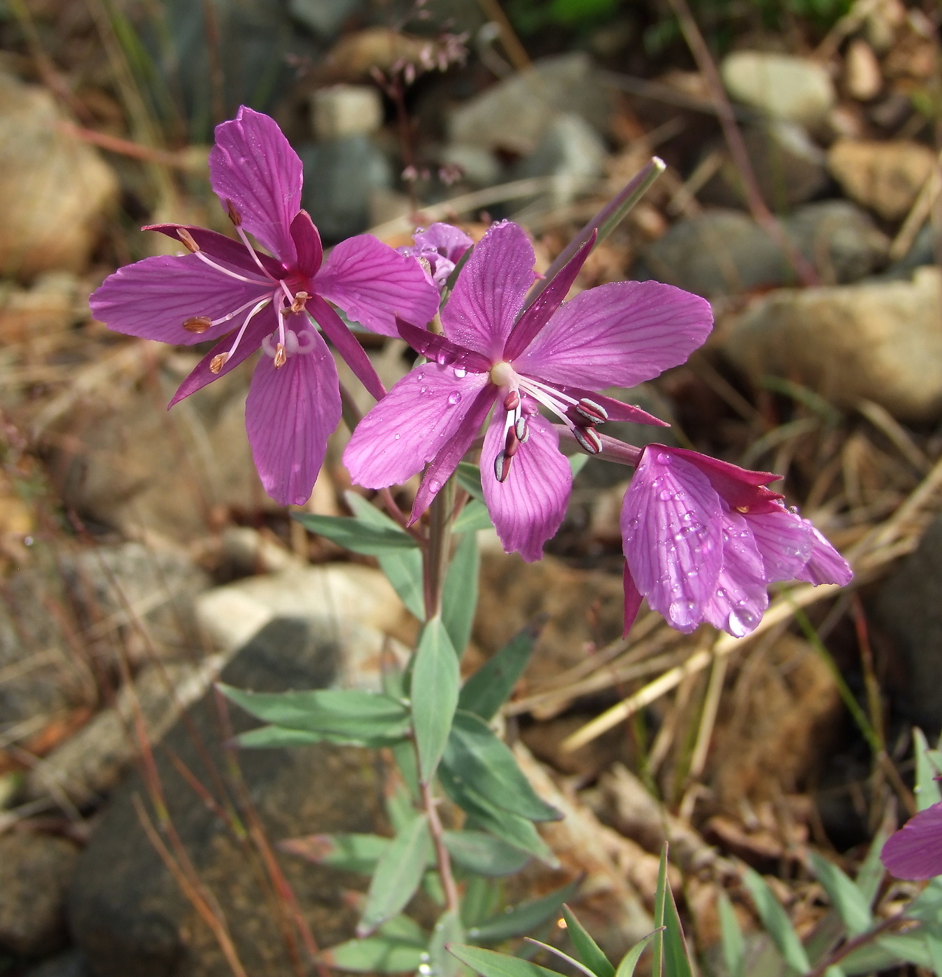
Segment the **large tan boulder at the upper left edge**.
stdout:
<svg viewBox="0 0 942 977">
<path fill-rule="evenodd" d="M 0 71 L 0 273 L 80 272 L 118 185 L 97 149 L 63 129 L 52 94 Z"/>
</svg>

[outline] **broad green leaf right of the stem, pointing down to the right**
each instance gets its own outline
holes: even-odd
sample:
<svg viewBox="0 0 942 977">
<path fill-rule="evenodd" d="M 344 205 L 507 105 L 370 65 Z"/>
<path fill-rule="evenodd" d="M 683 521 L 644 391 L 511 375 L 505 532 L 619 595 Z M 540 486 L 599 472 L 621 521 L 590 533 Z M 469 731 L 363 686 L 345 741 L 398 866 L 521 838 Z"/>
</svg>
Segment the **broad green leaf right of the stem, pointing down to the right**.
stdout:
<svg viewBox="0 0 942 977">
<path fill-rule="evenodd" d="M 531 821 L 558 821 L 562 817 L 540 799 L 506 743 L 501 743 L 473 712 L 455 712 L 442 764 L 452 778 L 511 814 Z"/>
</svg>

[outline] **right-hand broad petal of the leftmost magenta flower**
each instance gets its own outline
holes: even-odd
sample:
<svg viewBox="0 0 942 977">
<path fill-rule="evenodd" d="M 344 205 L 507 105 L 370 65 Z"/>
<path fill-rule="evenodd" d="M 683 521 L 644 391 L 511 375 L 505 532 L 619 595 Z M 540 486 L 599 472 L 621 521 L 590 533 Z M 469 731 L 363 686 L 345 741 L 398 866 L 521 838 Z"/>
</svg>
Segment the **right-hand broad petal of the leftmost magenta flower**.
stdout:
<svg viewBox="0 0 942 977">
<path fill-rule="evenodd" d="M 418 262 L 370 234 L 341 241 L 315 277 L 318 294 L 367 329 L 398 336 L 396 316 L 424 325 L 439 310 L 438 289 Z"/>
</svg>

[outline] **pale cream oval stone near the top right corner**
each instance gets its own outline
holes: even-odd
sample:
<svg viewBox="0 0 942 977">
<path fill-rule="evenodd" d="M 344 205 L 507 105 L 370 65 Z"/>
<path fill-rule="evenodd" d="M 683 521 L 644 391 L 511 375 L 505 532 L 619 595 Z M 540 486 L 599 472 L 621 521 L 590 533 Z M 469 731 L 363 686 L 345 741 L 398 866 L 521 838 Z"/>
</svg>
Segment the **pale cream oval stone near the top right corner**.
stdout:
<svg viewBox="0 0 942 977">
<path fill-rule="evenodd" d="M 734 51 L 720 64 L 730 97 L 786 122 L 813 125 L 835 104 L 825 67 L 769 51 Z"/>
</svg>

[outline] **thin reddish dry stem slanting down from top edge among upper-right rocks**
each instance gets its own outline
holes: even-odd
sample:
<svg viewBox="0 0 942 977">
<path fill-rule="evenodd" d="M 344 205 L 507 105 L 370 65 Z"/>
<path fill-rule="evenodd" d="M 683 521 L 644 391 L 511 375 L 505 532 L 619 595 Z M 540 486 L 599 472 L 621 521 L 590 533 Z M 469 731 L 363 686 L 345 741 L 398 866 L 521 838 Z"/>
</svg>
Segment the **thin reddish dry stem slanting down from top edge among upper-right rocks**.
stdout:
<svg viewBox="0 0 942 977">
<path fill-rule="evenodd" d="M 710 98 L 716 107 L 716 115 L 719 118 L 726 145 L 729 147 L 733 162 L 743 178 L 743 190 L 746 193 L 746 202 L 752 217 L 757 224 L 761 225 L 766 234 L 769 234 L 782 248 L 795 273 L 801 279 L 801 283 L 804 285 L 819 284 L 818 273 L 792 244 L 788 235 L 782 230 L 782 225 L 779 224 L 766 206 L 765 200 L 762 199 L 755 179 L 755 171 L 752 169 L 749 153 L 746 151 L 746 144 L 743 142 L 743 135 L 736 124 L 733 106 L 730 105 L 729 99 L 726 97 L 719 72 L 716 70 L 712 55 L 706 46 L 704 35 L 700 32 L 700 27 L 690 12 L 687 0 L 668 0 L 668 2 L 676 14 L 677 20 L 680 21 L 680 29 L 683 31 L 687 46 L 706 80 L 706 87 L 709 89 Z"/>
</svg>

